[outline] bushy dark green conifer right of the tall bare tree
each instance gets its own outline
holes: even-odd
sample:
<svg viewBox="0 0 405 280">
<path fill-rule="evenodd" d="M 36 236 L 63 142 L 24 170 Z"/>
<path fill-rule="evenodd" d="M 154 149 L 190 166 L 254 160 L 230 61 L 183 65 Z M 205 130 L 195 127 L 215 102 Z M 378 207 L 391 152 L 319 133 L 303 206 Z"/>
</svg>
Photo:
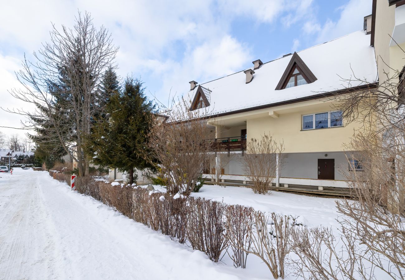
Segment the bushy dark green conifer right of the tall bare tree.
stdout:
<svg viewBox="0 0 405 280">
<path fill-rule="evenodd" d="M 107 117 L 94 125 L 87 152 L 94 153 L 97 164 L 128 172 L 128 182 L 132 184 L 134 168 L 153 168 L 143 155 L 155 107 L 145 96 L 143 83 L 127 77 L 122 89 L 110 96 L 106 108 Z"/>
</svg>

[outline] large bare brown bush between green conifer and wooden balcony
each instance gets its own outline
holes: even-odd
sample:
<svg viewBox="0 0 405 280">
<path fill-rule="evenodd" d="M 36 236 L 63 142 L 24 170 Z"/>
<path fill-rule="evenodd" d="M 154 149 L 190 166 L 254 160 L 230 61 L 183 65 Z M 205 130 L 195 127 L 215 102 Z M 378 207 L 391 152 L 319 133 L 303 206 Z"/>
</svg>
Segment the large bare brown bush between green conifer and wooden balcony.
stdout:
<svg viewBox="0 0 405 280">
<path fill-rule="evenodd" d="M 158 119 L 149 134 L 150 161 L 171 195 L 190 194 L 203 174 L 213 142 L 204 140 L 209 135 L 205 109 L 191 111 L 182 99 L 167 112 L 168 120 Z"/>
</svg>

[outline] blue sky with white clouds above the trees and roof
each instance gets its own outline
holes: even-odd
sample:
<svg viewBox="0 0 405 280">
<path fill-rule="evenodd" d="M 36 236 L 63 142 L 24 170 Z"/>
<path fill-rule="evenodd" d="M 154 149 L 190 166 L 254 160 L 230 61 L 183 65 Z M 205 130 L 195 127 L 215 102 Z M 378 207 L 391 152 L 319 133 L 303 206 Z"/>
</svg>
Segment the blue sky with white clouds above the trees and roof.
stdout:
<svg viewBox="0 0 405 280">
<path fill-rule="evenodd" d="M 361 30 L 371 0 L 8 1 L 0 25 L 0 106 L 30 108 L 7 92 L 20 87 L 14 71 L 24 53 L 31 58 L 49 39 L 51 22 L 71 26 L 78 10 L 111 31 L 120 47 L 118 74 L 140 77 L 151 98 L 167 104 L 169 93 L 181 95 L 189 81 L 204 83 Z M 19 127 L 19 116 L 0 112 L 0 119 Z"/>
</svg>

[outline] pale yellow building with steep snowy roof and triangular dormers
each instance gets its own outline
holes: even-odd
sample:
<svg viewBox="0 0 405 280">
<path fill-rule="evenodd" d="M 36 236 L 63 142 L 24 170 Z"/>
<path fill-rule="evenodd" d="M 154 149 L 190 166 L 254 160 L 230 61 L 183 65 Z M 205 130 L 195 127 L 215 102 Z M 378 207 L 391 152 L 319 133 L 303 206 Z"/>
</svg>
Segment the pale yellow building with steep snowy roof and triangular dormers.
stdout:
<svg viewBox="0 0 405 280">
<path fill-rule="evenodd" d="M 204 177 L 220 173 L 222 181 L 248 183 L 241 165 L 246 144 L 271 134 L 285 148 L 274 186 L 348 187 L 345 174 L 362 166 L 345 145 L 372 124 L 361 112 L 345 120 L 334 96 L 378 87 L 390 69 L 403 69 L 404 4 L 373 0 L 363 30 L 271 62 L 257 59 L 252 68 L 214 81 L 190 82 L 190 109 L 209 111 L 219 147 Z"/>
</svg>

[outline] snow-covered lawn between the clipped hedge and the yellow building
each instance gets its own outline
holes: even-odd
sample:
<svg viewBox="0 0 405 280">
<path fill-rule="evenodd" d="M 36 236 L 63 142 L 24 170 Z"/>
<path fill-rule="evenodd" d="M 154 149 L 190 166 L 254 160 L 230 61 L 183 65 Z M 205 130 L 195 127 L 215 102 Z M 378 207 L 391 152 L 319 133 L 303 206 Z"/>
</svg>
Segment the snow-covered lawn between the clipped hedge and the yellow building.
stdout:
<svg viewBox="0 0 405 280">
<path fill-rule="evenodd" d="M 165 192 L 161 186 L 155 189 Z M 272 191 L 267 195 L 253 193 L 252 189 L 244 187 L 220 187 L 218 185 L 204 185 L 198 193 L 192 196 L 205 197 L 227 204 L 252 206 L 256 210 L 276 212 L 283 215 L 298 217 L 297 221 L 309 227 L 318 225 L 339 227 L 336 218 L 336 204 L 333 198 L 313 197 Z"/>
</svg>

